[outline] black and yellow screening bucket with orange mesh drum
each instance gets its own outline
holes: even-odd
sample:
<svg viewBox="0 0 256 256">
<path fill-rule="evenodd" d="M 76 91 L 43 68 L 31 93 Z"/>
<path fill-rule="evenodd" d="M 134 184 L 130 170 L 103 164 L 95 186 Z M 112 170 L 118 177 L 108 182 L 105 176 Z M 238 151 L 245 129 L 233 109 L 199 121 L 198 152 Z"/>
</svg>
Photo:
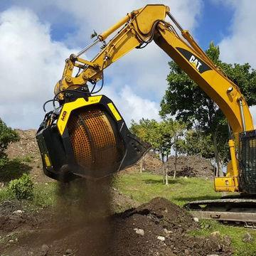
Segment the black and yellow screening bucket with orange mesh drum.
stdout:
<svg viewBox="0 0 256 256">
<path fill-rule="evenodd" d="M 105 95 L 79 95 L 44 118 L 36 139 L 43 171 L 58 181 L 110 176 L 136 163 L 149 149 L 129 132 Z"/>
</svg>

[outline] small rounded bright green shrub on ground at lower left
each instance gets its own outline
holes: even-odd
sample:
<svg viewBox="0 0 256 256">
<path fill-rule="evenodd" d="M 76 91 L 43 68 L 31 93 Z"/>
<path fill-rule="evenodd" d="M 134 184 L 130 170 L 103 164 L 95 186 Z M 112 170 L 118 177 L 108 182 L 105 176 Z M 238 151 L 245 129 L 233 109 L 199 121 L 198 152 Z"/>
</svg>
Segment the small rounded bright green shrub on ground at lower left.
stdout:
<svg viewBox="0 0 256 256">
<path fill-rule="evenodd" d="M 21 178 L 14 179 L 9 183 L 9 191 L 18 200 L 31 200 L 34 196 L 33 188 L 33 181 L 28 174 L 23 174 Z"/>
</svg>

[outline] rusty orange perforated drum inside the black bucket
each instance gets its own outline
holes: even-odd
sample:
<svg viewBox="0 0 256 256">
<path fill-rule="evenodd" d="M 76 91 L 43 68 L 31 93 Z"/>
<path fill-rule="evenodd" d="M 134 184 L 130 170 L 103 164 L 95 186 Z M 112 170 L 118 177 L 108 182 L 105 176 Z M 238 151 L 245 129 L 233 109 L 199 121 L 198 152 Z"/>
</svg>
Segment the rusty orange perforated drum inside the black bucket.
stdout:
<svg viewBox="0 0 256 256">
<path fill-rule="evenodd" d="M 68 132 L 75 161 L 85 175 L 105 176 L 117 171 L 123 151 L 106 112 L 95 107 L 76 110 L 68 120 Z"/>
</svg>

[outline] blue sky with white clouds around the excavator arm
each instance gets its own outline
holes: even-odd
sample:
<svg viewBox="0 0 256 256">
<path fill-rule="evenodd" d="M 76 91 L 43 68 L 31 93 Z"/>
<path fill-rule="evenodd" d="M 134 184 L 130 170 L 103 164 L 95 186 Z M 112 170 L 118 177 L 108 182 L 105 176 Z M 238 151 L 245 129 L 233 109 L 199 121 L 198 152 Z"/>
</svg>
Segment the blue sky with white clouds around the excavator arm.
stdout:
<svg viewBox="0 0 256 256">
<path fill-rule="evenodd" d="M 11 127 L 37 128 L 42 105 L 53 98 L 65 58 L 92 42 L 90 34 L 112 26 L 128 12 L 156 1 L 1 0 L 0 117 Z M 166 0 L 183 28 L 206 49 L 213 41 L 228 63 L 256 68 L 256 1 Z M 92 58 L 92 50 L 84 58 Z M 159 119 L 167 87 L 169 56 L 151 43 L 133 50 L 105 70 L 102 94 L 110 97 L 127 124 L 142 117 Z M 48 106 L 50 110 L 50 105 Z M 256 120 L 255 107 L 252 115 Z"/>
</svg>

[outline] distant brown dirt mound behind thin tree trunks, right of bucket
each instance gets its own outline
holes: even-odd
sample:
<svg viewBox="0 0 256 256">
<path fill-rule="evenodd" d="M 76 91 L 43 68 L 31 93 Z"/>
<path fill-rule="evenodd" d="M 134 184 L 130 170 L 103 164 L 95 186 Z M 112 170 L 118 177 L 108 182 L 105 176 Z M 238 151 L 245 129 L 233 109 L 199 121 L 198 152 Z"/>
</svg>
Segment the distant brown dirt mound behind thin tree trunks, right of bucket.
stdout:
<svg viewBox="0 0 256 256">
<path fill-rule="evenodd" d="M 175 157 L 170 156 L 166 166 L 169 176 L 174 175 Z M 201 156 L 178 156 L 176 176 L 213 178 L 213 166 L 210 160 Z"/>
</svg>

